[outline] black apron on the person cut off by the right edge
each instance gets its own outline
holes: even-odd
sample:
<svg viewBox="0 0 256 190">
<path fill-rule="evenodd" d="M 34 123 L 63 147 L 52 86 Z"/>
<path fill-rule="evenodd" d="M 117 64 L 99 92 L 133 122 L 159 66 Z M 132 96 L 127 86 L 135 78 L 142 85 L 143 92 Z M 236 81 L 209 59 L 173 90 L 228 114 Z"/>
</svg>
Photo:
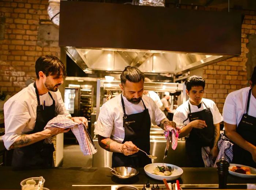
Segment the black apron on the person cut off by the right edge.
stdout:
<svg viewBox="0 0 256 190">
<path fill-rule="evenodd" d="M 250 142 L 256 146 L 256 117 L 248 115 L 250 98 L 251 98 L 252 88 L 249 90 L 246 113 L 243 114 L 240 120 L 236 132 L 240 134 L 246 141 Z M 234 143 L 233 145 L 233 160 L 232 163 L 243 164 L 246 166 L 251 166 L 256 168 L 256 163 L 252 159 L 252 154 L 245 149 L 239 147 Z"/>
</svg>

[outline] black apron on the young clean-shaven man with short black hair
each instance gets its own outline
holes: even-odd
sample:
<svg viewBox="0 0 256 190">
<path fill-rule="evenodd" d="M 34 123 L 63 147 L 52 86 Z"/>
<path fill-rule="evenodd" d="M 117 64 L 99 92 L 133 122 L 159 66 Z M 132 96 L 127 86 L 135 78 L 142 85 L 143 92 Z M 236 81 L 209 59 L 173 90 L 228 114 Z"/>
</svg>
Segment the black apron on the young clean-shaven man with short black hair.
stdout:
<svg viewBox="0 0 256 190">
<path fill-rule="evenodd" d="M 189 137 L 186 138 L 186 158 L 187 167 L 204 167 L 204 161 L 202 158 L 202 147 L 213 147 L 214 143 L 214 124 L 213 117 L 209 107 L 202 102 L 206 109 L 191 113 L 190 104 L 188 102 L 188 119 L 189 122 L 200 119 L 206 121 L 206 128 L 196 129 L 192 128 L 189 133 Z M 187 120 L 187 119 L 186 119 Z M 185 121 L 186 121 L 185 120 Z"/>
</svg>

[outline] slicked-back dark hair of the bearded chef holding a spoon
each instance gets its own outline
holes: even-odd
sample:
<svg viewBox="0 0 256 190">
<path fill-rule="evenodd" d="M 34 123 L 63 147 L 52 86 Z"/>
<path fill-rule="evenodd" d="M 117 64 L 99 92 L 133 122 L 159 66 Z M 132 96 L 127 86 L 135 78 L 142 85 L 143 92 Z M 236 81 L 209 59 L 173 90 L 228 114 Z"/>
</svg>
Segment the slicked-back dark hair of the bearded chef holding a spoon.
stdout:
<svg viewBox="0 0 256 190">
<path fill-rule="evenodd" d="M 125 84 L 126 80 L 129 80 L 132 83 L 138 83 L 143 79 L 145 80 L 144 73 L 141 72 L 135 66 L 127 66 L 120 75 L 121 84 Z"/>
</svg>

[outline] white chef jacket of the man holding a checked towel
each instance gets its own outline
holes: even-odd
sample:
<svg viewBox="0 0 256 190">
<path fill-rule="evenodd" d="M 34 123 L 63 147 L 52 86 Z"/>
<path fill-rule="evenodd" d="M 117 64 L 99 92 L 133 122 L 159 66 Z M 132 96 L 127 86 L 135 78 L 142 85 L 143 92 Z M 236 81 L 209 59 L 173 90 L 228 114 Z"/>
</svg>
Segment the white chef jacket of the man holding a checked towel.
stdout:
<svg viewBox="0 0 256 190">
<path fill-rule="evenodd" d="M 14 141 L 22 134 L 32 131 L 35 127 L 37 115 L 37 95 L 35 94 L 34 83 L 24 88 L 4 104 L 4 125 L 5 134 L 3 136 L 4 145 L 9 149 Z M 55 113 L 71 118 L 65 109 L 60 91 L 50 91 L 55 100 Z M 52 98 L 48 93 L 39 96 L 41 104 L 45 101 L 45 106 L 51 106 Z"/>
</svg>

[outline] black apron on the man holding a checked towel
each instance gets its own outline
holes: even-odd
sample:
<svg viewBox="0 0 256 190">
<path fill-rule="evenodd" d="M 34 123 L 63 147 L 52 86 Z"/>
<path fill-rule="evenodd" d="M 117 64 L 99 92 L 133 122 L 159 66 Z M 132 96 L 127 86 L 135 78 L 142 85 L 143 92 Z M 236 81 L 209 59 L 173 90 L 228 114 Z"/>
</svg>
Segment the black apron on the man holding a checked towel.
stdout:
<svg viewBox="0 0 256 190">
<path fill-rule="evenodd" d="M 34 129 L 27 133 L 37 133 L 44 130 L 44 127 L 55 115 L 55 101 L 50 92 L 48 94 L 53 100 L 51 106 L 40 104 L 37 86 L 34 83 L 35 93 L 37 94 L 37 118 Z M 12 166 L 15 168 L 49 168 L 53 166 L 53 144 L 44 144 L 44 140 L 35 142 L 26 147 L 15 148 L 12 156 Z"/>
</svg>

